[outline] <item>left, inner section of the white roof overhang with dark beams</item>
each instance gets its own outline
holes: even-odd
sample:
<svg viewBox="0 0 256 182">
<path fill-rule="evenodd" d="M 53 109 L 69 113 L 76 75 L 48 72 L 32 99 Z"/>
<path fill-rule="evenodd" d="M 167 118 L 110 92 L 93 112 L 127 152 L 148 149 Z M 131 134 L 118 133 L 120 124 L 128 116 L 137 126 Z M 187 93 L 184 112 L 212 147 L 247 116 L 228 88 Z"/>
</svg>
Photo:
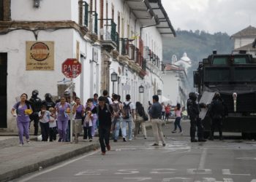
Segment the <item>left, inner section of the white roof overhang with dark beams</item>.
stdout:
<svg viewBox="0 0 256 182">
<path fill-rule="evenodd" d="M 125 2 L 143 26 L 159 23 L 159 19 L 154 14 L 148 0 L 125 0 Z"/>
</svg>

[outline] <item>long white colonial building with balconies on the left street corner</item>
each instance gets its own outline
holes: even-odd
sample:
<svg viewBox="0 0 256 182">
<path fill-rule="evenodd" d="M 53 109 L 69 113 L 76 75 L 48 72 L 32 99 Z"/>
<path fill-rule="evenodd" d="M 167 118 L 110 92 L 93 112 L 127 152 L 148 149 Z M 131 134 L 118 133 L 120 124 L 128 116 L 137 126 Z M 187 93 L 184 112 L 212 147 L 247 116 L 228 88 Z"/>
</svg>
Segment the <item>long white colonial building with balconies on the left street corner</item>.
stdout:
<svg viewBox="0 0 256 182">
<path fill-rule="evenodd" d="M 74 82 L 83 103 L 109 90 L 145 105 L 163 90 L 162 38 L 175 35 L 161 1 L 0 0 L 0 128 L 17 130 L 10 109 L 21 93 L 37 89 L 43 99 L 67 90 L 67 58 L 82 63 Z"/>
</svg>

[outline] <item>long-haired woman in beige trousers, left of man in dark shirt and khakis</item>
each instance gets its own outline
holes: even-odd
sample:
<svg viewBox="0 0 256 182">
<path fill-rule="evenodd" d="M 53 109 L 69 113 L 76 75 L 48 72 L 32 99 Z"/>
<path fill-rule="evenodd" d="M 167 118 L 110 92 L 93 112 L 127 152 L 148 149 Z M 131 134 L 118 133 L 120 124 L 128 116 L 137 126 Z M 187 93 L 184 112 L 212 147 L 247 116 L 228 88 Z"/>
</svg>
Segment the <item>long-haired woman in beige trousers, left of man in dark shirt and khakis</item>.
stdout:
<svg viewBox="0 0 256 182">
<path fill-rule="evenodd" d="M 136 103 L 136 109 L 135 109 L 135 131 L 134 131 L 134 137 L 136 138 L 136 136 L 138 135 L 138 131 L 140 130 L 140 126 L 142 129 L 142 133 L 144 136 L 144 139 L 147 138 L 147 133 L 146 133 L 146 121 L 144 120 L 144 116 L 145 116 L 145 110 L 142 106 L 142 104 L 140 102 Z"/>
</svg>

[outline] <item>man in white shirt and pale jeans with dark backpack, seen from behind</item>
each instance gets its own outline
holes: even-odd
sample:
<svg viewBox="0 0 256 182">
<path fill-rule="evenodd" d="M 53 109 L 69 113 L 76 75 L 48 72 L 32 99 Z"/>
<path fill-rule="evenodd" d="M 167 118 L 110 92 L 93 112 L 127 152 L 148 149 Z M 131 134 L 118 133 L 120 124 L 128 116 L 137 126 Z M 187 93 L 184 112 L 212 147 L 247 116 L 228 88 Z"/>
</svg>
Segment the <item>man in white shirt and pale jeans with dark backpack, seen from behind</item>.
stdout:
<svg viewBox="0 0 256 182">
<path fill-rule="evenodd" d="M 127 124 L 128 124 L 128 140 L 132 141 L 132 121 L 135 121 L 135 104 L 131 101 L 131 95 L 127 95 L 126 101 L 123 103 L 123 121 L 121 132 L 123 141 L 127 141 Z"/>
</svg>

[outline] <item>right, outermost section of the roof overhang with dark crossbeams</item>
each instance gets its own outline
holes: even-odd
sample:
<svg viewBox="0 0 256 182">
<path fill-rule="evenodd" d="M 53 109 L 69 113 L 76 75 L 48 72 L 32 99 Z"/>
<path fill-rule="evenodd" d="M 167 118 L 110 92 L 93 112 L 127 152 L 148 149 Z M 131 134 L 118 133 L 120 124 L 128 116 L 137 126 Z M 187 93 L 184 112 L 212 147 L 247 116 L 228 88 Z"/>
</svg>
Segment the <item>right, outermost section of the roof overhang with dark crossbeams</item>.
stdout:
<svg viewBox="0 0 256 182">
<path fill-rule="evenodd" d="M 173 28 L 170 19 L 162 6 L 161 0 L 148 0 L 152 7 L 154 14 L 159 18 L 159 25 L 157 29 L 162 36 L 173 37 L 176 36 L 176 31 Z"/>
</svg>

